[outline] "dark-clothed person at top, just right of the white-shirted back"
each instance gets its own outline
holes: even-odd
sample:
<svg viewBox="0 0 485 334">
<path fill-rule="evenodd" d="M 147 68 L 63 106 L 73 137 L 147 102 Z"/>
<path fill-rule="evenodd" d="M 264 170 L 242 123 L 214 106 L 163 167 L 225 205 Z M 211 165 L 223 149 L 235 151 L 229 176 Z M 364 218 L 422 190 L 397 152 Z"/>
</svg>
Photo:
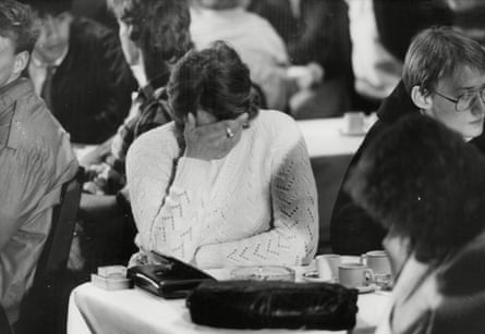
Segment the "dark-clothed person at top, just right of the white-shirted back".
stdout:
<svg viewBox="0 0 485 334">
<path fill-rule="evenodd" d="M 290 98 L 296 119 L 335 116 L 351 109 L 353 76 L 344 0 L 253 0 L 248 10 L 276 28 L 295 69 L 317 66 L 323 73 L 322 83 L 302 83 Z"/>
</svg>

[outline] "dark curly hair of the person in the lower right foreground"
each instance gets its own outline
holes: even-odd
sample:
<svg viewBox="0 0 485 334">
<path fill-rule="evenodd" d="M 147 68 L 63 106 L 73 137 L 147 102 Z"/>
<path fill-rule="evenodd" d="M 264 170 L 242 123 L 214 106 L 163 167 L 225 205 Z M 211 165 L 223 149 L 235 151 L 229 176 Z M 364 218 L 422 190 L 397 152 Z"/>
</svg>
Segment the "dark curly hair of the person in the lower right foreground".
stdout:
<svg viewBox="0 0 485 334">
<path fill-rule="evenodd" d="M 386 228 L 435 262 L 485 226 L 485 158 L 437 121 L 413 115 L 383 132 L 345 184 Z"/>
</svg>

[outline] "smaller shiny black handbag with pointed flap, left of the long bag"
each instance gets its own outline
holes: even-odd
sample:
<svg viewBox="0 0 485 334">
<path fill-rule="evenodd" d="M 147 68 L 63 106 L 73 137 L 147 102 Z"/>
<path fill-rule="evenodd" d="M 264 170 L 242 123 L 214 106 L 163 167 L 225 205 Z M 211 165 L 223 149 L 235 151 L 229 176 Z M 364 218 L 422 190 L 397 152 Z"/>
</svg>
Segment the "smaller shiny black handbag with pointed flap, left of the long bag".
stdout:
<svg viewBox="0 0 485 334">
<path fill-rule="evenodd" d="M 132 267 L 126 276 L 134 284 L 157 296 L 174 299 L 185 298 L 202 282 L 216 281 L 199 269 L 173 257 L 153 252 L 159 264 Z"/>
</svg>

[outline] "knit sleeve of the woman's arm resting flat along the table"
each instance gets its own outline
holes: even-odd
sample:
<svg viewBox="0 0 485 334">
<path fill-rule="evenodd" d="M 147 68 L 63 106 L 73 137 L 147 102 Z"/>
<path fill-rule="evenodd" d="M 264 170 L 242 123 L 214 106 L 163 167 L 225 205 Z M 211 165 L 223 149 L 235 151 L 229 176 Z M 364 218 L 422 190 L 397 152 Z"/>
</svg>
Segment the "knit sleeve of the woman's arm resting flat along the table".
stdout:
<svg viewBox="0 0 485 334">
<path fill-rule="evenodd" d="M 306 145 L 294 122 L 287 122 L 278 133 L 272 150 L 270 228 L 244 239 L 202 246 L 195 258 L 198 267 L 300 265 L 315 255 L 317 193 Z"/>
</svg>

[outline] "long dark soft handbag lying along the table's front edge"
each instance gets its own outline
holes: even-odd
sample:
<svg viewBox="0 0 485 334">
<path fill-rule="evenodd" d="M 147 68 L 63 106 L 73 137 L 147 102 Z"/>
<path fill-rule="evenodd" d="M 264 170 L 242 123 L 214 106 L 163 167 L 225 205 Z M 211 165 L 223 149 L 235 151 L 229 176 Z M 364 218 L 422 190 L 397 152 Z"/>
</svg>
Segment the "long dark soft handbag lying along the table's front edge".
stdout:
<svg viewBox="0 0 485 334">
<path fill-rule="evenodd" d="M 318 329 L 355 326 L 357 290 L 338 284 L 205 282 L 186 299 L 192 321 L 227 329 Z"/>
</svg>

